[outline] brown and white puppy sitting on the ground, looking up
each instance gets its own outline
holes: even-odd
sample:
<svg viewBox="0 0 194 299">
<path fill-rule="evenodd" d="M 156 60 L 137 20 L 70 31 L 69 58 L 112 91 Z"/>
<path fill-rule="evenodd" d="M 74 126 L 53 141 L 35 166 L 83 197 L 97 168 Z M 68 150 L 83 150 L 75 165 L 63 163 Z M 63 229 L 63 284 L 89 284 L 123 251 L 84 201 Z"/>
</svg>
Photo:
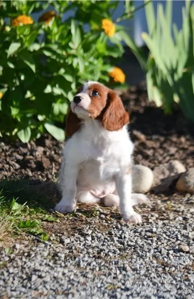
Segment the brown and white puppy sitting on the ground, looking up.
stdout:
<svg viewBox="0 0 194 299">
<path fill-rule="evenodd" d="M 120 206 L 124 220 L 141 222 L 133 205 L 147 197 L 132 193 L 133 144 L 127 132 L 129 115 L 119 96 L 90 81 L 73 98 L 66 121 L 66 136 L 59 185 L 60 213 L 72 212 L 76 201 Z"/>
</svg>

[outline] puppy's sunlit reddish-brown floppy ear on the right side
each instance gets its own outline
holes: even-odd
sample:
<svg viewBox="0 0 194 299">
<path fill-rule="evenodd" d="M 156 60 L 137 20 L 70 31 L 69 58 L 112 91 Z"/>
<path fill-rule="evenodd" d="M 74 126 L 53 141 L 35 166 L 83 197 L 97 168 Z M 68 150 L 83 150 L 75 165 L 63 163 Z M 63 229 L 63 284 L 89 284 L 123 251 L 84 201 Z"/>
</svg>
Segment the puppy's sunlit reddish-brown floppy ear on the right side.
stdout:
<svg viewBox="0 0 194 299">
<path fill-rule="evenodd" d="M 102 112 L 102 126 L 108 131 L 118 131 L 128 123 L 129 114 L 125 111 L 120 97 L 111 90 Z"/>
</svg>

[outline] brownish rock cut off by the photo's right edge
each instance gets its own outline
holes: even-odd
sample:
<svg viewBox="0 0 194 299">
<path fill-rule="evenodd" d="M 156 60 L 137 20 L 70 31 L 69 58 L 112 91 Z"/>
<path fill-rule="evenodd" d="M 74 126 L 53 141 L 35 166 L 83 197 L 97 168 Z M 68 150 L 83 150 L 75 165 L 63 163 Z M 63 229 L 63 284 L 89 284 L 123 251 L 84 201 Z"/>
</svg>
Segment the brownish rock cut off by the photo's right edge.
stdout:
<svg viewBox="0 0 194 299">
<path fill-rule="evenodd" d="M 194 167 L 182 173 L 177 181 L 176 189 L 180 192 L 190 192 L 194 194 Z"/>
</svg>

